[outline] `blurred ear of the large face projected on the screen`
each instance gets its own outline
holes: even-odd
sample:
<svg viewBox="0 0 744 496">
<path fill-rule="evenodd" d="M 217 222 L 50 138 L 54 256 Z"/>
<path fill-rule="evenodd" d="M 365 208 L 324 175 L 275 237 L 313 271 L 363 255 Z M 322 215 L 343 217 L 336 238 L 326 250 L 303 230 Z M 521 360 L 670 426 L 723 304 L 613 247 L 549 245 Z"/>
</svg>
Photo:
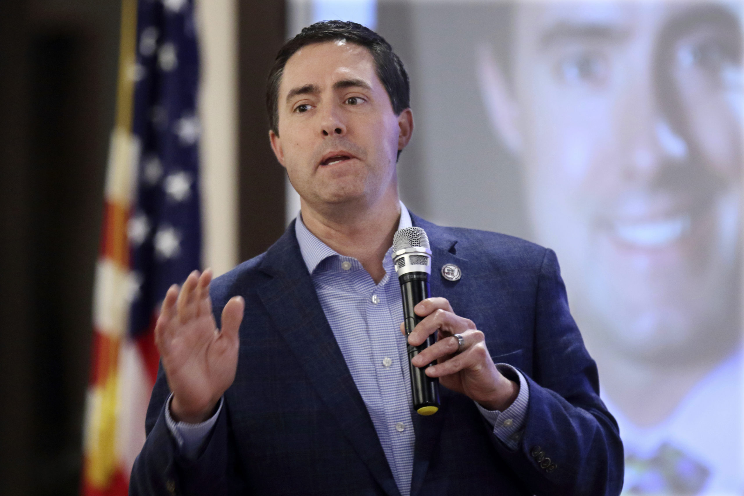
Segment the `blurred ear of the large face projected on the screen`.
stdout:
<svg viewBox="0 0 744 496">
<path fill-rule="evenodd" d="M 481 43 L 475 49 L 476 73 L 481 96 L 493 132 L 514 155 L 522 153 L 522 126 L 519 105 L 510 91 L 504 71 L 496 62 L 493 48 Z"/>
</svg>

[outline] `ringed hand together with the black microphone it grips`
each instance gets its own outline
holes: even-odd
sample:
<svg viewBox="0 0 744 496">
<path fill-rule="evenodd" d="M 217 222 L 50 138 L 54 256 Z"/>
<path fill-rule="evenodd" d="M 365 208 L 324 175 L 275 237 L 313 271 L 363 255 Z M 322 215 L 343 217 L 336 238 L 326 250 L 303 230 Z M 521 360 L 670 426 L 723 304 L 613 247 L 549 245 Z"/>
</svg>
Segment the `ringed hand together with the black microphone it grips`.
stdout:
<svg viewBox="0 0 744 496">
<path fill-rule="evenodd" d="M 395 234 L 393 246 L 403 293 L 405 321 L 400 329 L 408 336 L 414 409 L 420 410 L 417 401 L 422 396 L 426 399 L 427 394 L 431 397 L 434 391 L 438 408 L 434 382 L 437 379 L 447 389 L 468 396 L 487 410 L 508 408 L 519 395 L 519 384 L 498 372 L 483 332 L 475 328 L 473 321 L 456 315 L 446 298 L 429 297 L 432 252 L 426 232 L 421 228 L 401 229 Z"/>
</svg>

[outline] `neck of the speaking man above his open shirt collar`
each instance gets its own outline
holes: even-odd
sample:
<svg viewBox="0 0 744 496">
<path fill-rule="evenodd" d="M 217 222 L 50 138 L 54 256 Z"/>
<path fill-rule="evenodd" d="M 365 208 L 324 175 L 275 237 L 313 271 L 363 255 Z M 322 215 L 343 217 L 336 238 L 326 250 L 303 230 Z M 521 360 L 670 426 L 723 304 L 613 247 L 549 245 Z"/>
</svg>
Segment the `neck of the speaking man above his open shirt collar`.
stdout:
<svg viewBox="0 0 744 496">
<path fill-rule="evenodd" d="M 375 284 L 385 277 L 382 260 L 393 244 L 400 221 L 397 190 L 371 206 L 336 206 L 320 210 L 301 202 L 308 231 L 345 257 L 359 260 Z"/>
</svg>

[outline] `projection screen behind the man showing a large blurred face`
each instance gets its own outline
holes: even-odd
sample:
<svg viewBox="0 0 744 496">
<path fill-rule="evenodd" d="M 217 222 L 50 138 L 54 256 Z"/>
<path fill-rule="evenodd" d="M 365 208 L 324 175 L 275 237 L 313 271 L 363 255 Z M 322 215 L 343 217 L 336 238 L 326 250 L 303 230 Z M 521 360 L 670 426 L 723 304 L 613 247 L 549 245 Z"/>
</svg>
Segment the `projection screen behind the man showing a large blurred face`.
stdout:
<svg viewBox="0 0 744 496">
<path fill-rule="evenodd" d="M 742 4 L 288 7 L 289 36 L 338 13 L 403 58 L 411 211 L 557 252 L 623 494 L 743 495 Z"/>
</svg>

